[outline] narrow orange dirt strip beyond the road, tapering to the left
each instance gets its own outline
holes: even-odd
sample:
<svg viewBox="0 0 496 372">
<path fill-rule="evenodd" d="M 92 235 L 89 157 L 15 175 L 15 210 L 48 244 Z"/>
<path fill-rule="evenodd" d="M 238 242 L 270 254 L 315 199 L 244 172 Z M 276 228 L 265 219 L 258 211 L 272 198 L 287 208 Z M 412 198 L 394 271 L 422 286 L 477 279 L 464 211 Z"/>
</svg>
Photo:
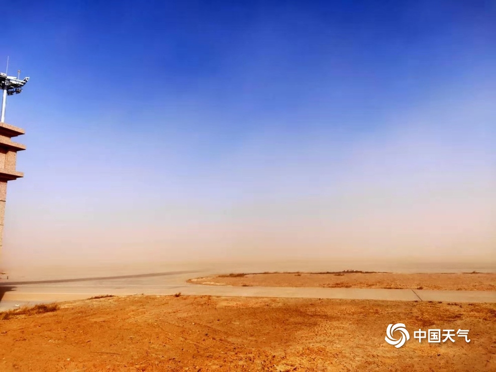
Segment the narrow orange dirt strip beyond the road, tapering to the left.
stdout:
<svg viewBox="0 0 496 372">
<path fill-rule="evenodd" d="M 243 287 L 386 288 L 496 291 L 496 273 L 418 273 L 340 271 L 329 273 L 232 273 L 194 278 L 194 284 Z"/>
</svg>

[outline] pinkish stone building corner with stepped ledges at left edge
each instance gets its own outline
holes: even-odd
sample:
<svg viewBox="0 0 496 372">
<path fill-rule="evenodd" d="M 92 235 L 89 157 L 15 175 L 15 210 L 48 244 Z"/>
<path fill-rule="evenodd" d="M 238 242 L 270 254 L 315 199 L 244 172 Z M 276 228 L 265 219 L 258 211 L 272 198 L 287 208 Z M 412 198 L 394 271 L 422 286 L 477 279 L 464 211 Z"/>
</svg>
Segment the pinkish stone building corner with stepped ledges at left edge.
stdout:
<svg viewBox="0 0 496 372">
<path fill-rule="evenodd" d="M 12 141 L 12 137 L 22 134 L 24 134 L 23 129 L 0 122 L 0 252 L 4 236 L 7 182 L 24 176 L 24 173 L 16 170 L 16 159 L 17 152 L 26 150 L 26 146 Z"/>
</svg>

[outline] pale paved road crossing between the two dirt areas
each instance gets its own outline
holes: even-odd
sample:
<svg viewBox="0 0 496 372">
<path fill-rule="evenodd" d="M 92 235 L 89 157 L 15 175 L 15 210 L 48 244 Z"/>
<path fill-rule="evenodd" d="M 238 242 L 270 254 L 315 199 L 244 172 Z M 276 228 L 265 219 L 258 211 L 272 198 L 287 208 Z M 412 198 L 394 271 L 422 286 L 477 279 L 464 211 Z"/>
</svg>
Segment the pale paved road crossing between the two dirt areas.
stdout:
<svg viewBox="0 0 496 372">
<path fill-rule="evenodd" d="M 175 270 L 134 275 L 2 280 L 0 310 L 16 305 L 87 299 L 96 295 L 183 295 L 292 297 L 391 301 L 443 301 L 496 303 L 496 292 L 388 290 L 357 288 L 229 287 L 187 284 L 191 277 L 215 270 Z"/>
</svg>

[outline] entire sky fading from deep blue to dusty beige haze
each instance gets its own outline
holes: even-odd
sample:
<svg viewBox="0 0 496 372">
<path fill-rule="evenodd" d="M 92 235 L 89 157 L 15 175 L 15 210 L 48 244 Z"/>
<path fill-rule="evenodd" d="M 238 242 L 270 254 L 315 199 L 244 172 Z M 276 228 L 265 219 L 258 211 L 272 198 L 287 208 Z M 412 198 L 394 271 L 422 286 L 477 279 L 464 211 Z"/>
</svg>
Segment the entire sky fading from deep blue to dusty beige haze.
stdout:
<svg viewBox="0 0 496 372">
<path fill-rule="evenodd" d="M 496 253 L 494 1 L 2 8 L 6 264 Z"/>
</svg>

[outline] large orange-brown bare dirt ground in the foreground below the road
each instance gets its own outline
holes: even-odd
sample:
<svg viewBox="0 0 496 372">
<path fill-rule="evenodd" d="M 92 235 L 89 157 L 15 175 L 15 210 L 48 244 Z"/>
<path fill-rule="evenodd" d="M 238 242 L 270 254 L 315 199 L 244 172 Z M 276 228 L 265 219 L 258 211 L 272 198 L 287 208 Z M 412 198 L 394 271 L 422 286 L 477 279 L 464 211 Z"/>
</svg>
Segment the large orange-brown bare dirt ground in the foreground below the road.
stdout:
<svg viewBox="0 0 496 372">
<path fill-rule="evenodd" d="M 7 372 L 496 370 L 495 304 L 130 296 L 7 318 Z M 398 349 L 384 341 L 397 322 L 411 333 Z M 419 343 L 419 328 L 471 341 Z"/>
</svg>

